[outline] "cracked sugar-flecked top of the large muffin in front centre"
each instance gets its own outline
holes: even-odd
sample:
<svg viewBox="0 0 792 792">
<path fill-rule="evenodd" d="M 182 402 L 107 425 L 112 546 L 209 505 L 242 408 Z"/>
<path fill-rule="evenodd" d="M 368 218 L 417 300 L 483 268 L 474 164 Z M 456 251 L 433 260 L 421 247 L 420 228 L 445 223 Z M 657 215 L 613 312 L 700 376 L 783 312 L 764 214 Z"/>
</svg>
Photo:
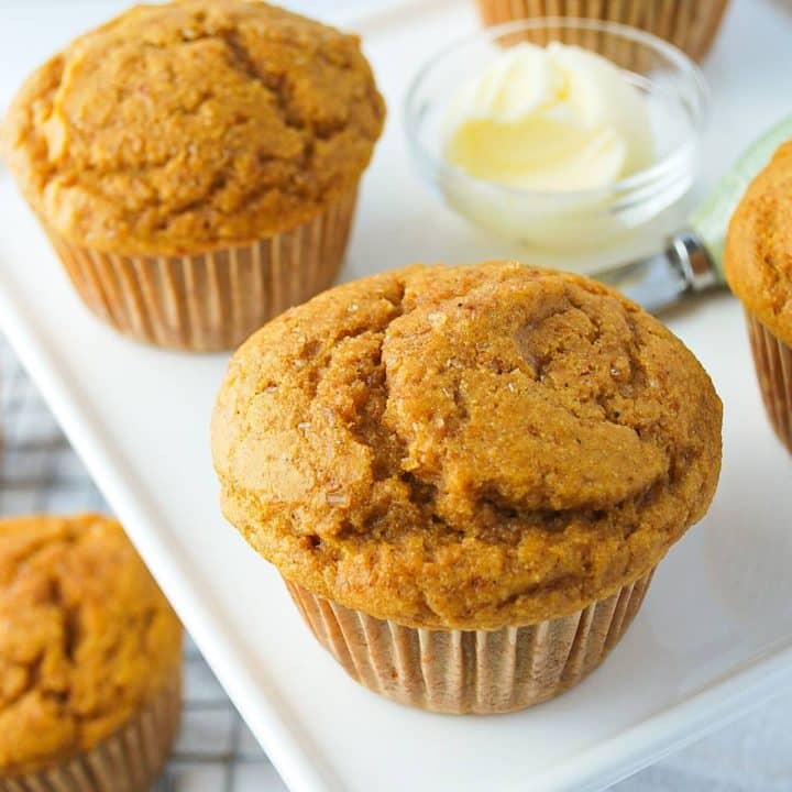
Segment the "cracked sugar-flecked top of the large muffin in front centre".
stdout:
<svg viewBox="0 0 792 792">
<path fill-rule="evenodd" d="M 212 419 L 228 519 L 280 573 L 399 624 L 573 613 L 706 512 L 721 402 L 605 286 L 411 267 L 293 308 L 234 354 Z"/>
</svg>

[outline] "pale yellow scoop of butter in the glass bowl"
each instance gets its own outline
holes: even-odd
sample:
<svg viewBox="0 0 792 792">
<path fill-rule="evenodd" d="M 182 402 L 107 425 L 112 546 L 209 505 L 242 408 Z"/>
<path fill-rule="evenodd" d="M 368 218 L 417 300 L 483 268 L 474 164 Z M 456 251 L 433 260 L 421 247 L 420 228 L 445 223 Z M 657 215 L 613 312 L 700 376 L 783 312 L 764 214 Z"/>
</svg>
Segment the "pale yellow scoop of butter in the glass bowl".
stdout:
<svg viewBox="0 0 792 792">
<path fill-rule="evenodd" d="M 446 121 L 447 160 L 507 187 L 596 189 L 653 160 L 640 91 L 601 55 L 556 42 L 505 50 L 462 87 Z"/>
</svg>

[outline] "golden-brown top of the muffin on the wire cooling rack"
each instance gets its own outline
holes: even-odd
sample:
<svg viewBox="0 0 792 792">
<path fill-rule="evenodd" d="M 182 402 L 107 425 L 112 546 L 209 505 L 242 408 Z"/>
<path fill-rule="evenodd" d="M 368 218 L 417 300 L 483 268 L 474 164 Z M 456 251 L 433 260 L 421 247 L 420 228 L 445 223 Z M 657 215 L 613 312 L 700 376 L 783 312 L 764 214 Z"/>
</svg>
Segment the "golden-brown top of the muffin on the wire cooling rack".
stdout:
<svg viewBox="0 0 792 792">
<path fill-rule="evenodd" d="M 109 736 L 167 682 L 180 644 L 118 522 L 0 520 L 0 774 Z"/>
</svg>

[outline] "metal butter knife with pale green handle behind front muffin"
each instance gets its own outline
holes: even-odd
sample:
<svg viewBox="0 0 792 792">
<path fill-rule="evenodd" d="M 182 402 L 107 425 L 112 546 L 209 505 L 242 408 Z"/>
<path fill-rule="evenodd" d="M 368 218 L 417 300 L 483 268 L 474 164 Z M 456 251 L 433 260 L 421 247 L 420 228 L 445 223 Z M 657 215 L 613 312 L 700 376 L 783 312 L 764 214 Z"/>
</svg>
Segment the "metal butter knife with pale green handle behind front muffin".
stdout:
<svg viewBox="0 0 792 792">
<path fill-rule="evenodd" d="M 724 286 L 723 253 L 728 223 L 754 177 L 773 152 L 792 139 L 792 116 L 756 141 L 693 212 L 688 228 L 669 239 L 661 253 L 638 258 L 598 274 L 650 311 L 675 302 L 682 295 Z"/>
</svg>

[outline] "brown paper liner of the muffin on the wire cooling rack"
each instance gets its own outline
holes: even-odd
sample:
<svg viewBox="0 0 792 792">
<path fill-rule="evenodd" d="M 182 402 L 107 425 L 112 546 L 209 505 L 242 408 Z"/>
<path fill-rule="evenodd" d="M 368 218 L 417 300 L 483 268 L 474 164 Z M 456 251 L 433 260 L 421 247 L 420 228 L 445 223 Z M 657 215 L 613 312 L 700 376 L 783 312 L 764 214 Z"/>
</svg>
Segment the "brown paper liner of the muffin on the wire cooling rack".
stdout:
<svg viewBox="0 0 792 792">
<path fill-rule="evenodd" d="M 150 792 L 176 738 L 182 670 L 124 726 L 90 750 L 38 770 L 0 774 L 0 792 Z"/>
</svg>

